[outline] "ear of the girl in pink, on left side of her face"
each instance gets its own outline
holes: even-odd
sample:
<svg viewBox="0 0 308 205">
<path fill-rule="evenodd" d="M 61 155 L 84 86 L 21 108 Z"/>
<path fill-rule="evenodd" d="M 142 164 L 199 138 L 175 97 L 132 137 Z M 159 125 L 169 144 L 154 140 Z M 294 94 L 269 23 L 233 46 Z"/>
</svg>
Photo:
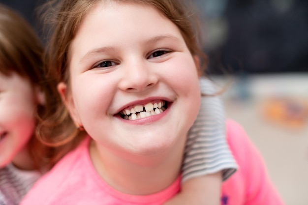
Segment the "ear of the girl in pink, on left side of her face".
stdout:
<svg viewBox="0 0 308 205">
<path fill-rule="evenodd" d="M 75 109 L 74 100 L 70 93 L 68 93 L 67 85 L 63 82 L 59 83 L 58 92 L 61 96 L 62 102 L 65 104 L 66 109 L 69 112 L 70 117 L 73 119 L 74 124 L 77 128 L 82 126 L 80 117 Z"/>
</svg>

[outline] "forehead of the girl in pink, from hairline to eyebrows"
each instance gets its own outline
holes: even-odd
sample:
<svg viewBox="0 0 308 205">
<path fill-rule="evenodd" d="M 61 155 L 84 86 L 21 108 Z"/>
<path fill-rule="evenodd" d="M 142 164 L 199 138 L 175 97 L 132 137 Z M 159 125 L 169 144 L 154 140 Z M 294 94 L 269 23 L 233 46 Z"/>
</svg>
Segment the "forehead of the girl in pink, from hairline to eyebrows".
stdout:
<svg viewBox="0 0 308 205">
<path fill-rule="evenodd" d="M 98 3 L 85 16 L 70 48 L 72 51 L 83 44 L 87 44 L 86 47 L 117 45 L 118 40 L 123 40 L 124 36 L 141 42 L 157 36 L 170 36 L 170 33 L 179 39 L 183 38 L 178 27 L 153 6 L 140 3 Z"/>
</svg>

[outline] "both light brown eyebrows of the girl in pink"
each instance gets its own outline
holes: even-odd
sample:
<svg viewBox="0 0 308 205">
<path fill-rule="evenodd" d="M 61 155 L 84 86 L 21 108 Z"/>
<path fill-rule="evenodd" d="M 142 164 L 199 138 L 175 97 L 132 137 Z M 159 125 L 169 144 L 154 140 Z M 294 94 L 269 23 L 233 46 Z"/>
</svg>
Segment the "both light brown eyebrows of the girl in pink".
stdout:
<svg viewBox="0 0 308 205">
<path fill-rule="evenodd" d="M 159 41 L 163 41 L 163 40 L 172 40 L 172 41 L 179 41 L 180 42 L 180 39 L 177 38 L 176 36 L 167 34 L 167 35 L 154 36 L 154 37 L 152 37 L 148 40 L 145 40 L 144 44 L 145 45 L 151 45 L 151 44 L 157 43 Z M 102 48 L 93 49 L 93 50 L 89 51 L 84 57 L 82 57 L 80 59 L 79 63 L 81 63 L 84 59 L 89 58 L 93 54 L 95 55 L 95 54 L 100 54 L 100 53 L 114 53 L 114 52 L 116 52 L 116 49 L 114 47 L 102 47 Z"/>
</svg>

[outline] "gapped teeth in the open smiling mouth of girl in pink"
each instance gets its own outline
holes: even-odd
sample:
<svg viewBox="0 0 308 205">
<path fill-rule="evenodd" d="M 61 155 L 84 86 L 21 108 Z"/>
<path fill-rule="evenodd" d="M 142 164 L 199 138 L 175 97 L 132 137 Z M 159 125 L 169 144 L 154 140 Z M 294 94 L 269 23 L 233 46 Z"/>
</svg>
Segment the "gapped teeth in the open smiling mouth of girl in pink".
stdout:
<svg viewBox="0 0 308 205">
<path fill-rule="evenodd" d="M 125 108 L 119 114 L 123 119 L 135 120 L 158 115 L 167 109 L 168 103 L 165 100 L 155 100 L 144 105 L 135 105 Z"/>
</svg>

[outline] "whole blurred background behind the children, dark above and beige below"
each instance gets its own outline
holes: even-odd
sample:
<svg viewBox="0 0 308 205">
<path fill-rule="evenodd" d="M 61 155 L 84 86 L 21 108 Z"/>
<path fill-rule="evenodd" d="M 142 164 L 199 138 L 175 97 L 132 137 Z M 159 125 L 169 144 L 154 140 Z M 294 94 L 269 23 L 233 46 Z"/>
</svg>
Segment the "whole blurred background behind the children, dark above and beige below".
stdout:
<svg viewBox="0 0 308 205">
<path fill-rule="evenodd" d="M 34 8 L 0 0 L 42 36 Z M 206 73 L 227 117 L 263 155 L 286 205 L 308 205 L 308 0 L 194 0 L 202 16 Z M 231 82 L 231 84 L 230 84 Z"/>
</svg>

